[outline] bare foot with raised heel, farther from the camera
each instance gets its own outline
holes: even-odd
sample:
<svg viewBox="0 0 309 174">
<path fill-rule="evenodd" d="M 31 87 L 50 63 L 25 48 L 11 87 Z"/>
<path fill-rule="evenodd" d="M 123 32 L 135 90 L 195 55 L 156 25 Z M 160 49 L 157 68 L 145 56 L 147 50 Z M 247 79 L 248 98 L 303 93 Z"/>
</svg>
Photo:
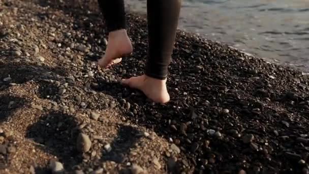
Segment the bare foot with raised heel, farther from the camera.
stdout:
<svg viewBox="0 0 309 174">
<path fill-rule="evenodd" d="M 117 64 L 121 62 L 122 56 L 131 54 L 132 51 L 132 43 L 126 30 L 122 29 L 110 32 L 105 55 L 98 61 L 98 65 L 102 68 L 106 68 L 113 64 Z"/>
</svg>

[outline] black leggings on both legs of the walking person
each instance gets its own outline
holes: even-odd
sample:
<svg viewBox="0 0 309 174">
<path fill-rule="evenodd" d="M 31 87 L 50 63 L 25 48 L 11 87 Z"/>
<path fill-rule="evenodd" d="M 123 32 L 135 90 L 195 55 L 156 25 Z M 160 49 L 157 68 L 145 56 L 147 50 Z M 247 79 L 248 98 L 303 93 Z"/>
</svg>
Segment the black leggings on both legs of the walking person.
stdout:
<svg viewBox="0 0 309 174">
<path fill-rule="evenodd" d="M 98 0 L 109 32 L 126 29 L 123 0 Z M 171 62 L 181 0 L 147 0 L 148 55 L 145 74 L 166 79 Z"/>
</svg>

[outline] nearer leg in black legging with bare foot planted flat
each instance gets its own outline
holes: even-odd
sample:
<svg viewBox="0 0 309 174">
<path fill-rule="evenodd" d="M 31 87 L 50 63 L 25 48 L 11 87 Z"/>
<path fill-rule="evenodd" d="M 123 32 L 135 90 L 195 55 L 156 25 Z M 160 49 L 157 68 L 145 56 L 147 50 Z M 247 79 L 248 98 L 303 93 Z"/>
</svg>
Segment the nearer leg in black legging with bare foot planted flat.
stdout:
<svg viewBox="0 0 309 174">
<path fill-rule="evenodd" d="M 168 66 L 173 51 L 180 0 L 148 0 L 148 59 L 145 74 L 123 80 L 123 84 L 137 88 L 154 102 L 170 100 L 166 88 Z"/>
</svg>

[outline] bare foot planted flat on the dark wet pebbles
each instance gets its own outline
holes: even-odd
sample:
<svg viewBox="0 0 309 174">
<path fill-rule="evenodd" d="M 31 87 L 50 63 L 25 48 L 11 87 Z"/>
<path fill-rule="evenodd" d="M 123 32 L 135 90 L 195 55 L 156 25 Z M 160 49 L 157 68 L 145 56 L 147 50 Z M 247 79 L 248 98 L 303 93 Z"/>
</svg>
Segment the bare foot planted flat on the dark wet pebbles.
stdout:
<svg viewBox="0 0 309 174">
<path fill-rule="evenodd" d="M 156 103 L 167 103 L 170 96 L 166 88 L 166 79 L 159 80 L 146 75 L 132 77 L 121 81 L 123 85 L 141 90 L 149 99 Z"/>
</svg>

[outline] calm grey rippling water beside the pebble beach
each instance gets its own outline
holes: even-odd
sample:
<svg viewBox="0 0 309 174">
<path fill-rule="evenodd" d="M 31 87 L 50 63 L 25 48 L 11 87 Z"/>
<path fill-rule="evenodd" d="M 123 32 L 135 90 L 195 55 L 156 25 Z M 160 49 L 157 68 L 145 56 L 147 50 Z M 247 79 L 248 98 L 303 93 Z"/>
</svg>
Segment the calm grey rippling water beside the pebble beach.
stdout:
<svg viewBox="0 0 309 174">
<path fill-rule="evenodd" d="M 145 0 L 126 3 L 146 12 Z M 183 0 L 179 28 L 309 71 L 307 0 Z"/>
</svg>

